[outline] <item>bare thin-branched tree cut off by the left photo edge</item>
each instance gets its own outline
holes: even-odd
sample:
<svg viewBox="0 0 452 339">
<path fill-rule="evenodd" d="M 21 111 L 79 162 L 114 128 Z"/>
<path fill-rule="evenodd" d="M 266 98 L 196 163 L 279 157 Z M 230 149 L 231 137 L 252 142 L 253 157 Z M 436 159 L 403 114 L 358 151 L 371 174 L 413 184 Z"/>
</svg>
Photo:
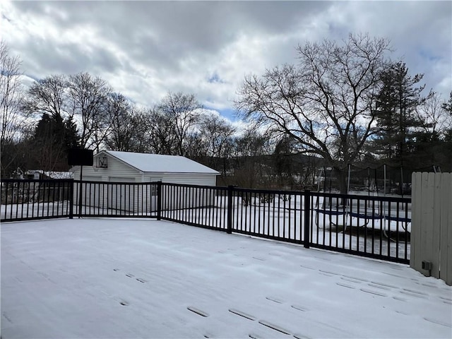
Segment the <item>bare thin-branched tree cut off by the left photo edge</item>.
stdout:
<svg viewBox="0 0 452 339">
<path fill-rule="evenodd" d="M 0 41 L 0 111 L 1 111 L 1 172 L 8 172 L 16 155 L 8 152 L 11 144 L 20 136 L 23 119 L 20 117 L 20 106 L 23 90 L 20 83 L 20 59 L 9 55 L 6 43 Z"/>
</svg>

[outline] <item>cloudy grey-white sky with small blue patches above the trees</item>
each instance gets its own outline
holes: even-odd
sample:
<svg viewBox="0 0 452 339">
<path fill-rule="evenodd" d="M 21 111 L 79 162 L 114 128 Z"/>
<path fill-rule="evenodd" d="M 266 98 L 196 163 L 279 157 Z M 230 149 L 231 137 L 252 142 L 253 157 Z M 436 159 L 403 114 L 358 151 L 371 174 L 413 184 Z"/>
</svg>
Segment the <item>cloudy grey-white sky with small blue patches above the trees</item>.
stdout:
<svg viewBox="0 0 452 339">
<path fill-rule="evenodd" d="M 297 44 L 386 37 L 427 88 L 452 90 L 451 1 L 1 1 L 0 36 L 34 79 L 86 71 L 141 105 L 194 93 L 225 117 L 246 74 Z"/>
</svg>

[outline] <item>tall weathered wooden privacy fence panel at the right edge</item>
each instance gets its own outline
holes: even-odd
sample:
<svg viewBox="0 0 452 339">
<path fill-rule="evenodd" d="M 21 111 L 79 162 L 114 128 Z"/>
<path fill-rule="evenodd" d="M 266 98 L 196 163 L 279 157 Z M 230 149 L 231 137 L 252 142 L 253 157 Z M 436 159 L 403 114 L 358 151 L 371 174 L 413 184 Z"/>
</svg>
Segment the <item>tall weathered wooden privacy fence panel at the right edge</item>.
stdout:
<svg viewBox="0 0 452 339">
<path fill-rule="evenodd" d="M 410 266 L 452 285 L 452 173 L 412 174 Z"/>
</svg>

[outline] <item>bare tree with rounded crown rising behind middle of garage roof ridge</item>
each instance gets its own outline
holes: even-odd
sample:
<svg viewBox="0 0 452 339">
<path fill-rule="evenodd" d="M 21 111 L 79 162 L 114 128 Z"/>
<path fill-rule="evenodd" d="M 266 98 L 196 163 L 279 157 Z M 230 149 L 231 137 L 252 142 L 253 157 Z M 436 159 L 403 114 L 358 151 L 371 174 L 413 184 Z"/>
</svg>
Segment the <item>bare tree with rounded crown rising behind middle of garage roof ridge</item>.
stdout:
<svg viewBox="0 0 452 339">
<path fill-rule="evenodd" d="M 193 94 L 168 93 L 159 107 L 160 112 L 174 124 L 174 137 L 176 148 L 174 155 L 186 154 L 186 143 L 189 134 L 194 132 L 194 127 L 200 119 L 202 105 Z"/>
</svg>

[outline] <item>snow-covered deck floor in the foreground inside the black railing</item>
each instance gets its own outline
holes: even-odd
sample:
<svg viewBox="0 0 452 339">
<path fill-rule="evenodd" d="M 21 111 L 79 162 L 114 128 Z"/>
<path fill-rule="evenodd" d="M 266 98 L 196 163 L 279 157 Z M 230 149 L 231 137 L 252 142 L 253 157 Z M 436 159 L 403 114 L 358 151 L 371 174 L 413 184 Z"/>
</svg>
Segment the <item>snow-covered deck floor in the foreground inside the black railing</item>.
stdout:
<svg viewBox="0 0 452 339">
<path fill-rule="evenodd" d="M 1 224 L 1 338 L 451 338 L 408 266 L 156 220 Z"/>
</svg>

